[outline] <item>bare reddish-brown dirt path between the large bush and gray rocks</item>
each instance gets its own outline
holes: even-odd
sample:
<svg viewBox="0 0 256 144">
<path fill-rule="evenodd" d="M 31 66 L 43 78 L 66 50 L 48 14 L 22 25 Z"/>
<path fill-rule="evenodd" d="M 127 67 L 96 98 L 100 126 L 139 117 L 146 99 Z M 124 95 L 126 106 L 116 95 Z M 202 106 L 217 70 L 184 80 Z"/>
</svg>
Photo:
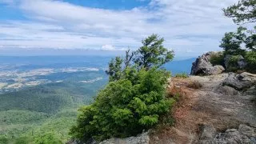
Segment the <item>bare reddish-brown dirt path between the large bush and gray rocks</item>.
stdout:
<svg viewBox="0 0 256 144">
<path fill-rule="evenodd" d="M 200 126 L 212 125 L 218 132 L 238 128 L 240 124 L 256 127 L 256 94 L 246 94 L 222 86 L 228 74 L 190 78 L 172 78 L 168 92 L 180 94 L 171 114 L 174 126 L 154 130 L 150 143 L 197 143 Z"/>
</svg>

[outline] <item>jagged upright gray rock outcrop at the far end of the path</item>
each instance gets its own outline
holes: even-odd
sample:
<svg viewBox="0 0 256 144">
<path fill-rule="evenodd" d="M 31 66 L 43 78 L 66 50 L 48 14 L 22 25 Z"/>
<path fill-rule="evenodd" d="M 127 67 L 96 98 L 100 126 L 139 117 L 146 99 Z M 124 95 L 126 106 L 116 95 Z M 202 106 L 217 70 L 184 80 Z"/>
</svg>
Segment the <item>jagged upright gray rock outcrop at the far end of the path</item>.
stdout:
<svg viewBox="0 0 256 144">
<path fill-rule="evenodd" d="M 198 57 L 195 62 L 193 62 L 191 73 L 192 75 L 212 75 L 221 74 L 225 69 L 223 66 L 213 66 L 210 63 L 210 57 L 214 52 L 208 52 L 202 54 Z"/>
</svg>

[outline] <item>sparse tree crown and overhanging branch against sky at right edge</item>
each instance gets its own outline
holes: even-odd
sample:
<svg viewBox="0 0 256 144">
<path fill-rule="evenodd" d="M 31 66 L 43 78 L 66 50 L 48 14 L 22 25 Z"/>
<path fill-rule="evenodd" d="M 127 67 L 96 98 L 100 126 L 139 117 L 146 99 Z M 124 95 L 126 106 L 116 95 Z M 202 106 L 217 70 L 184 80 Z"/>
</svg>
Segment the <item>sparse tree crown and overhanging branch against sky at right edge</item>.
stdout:
<svg viewBox="0 0 256 144">
<path fill-rule="evenodd" d="M 241 0 L 223 11 L 226 17 L 233 19 L 234 23 L 256 22 L 256 0 Z M 247 30 L 247 28 L 239 26 L 237 32 L 226 33 L 220 45 L 225 51 L 224 54 L 245 56 L 246 49 L 255 51 L 255 30 L 256 26 L 254 26 L 254 30 Z"/>
</svg>

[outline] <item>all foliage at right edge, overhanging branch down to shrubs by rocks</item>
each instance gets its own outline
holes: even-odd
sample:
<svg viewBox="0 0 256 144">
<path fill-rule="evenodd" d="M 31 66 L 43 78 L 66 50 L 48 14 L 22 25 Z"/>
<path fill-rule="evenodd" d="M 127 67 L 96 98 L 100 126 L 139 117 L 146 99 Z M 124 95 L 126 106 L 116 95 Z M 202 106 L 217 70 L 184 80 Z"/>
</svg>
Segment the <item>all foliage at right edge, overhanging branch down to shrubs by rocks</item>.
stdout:
<svg viewBox="0 0 256 144">
<path fill-rule="evenodd" d="M 224 14 L 228 18 L 233 18 L 237 24 L 250 22 L 254 25 L 256 22 L 256 1 L 241 0 L 233 6 L 223 9 Z M 245 27 L 239 26 L 237 32 L 226 33 L 222 38 L 220 47 L 224 50 L 224 57 L 230 55 L 228 71 L 237 71 L 238 58 L 242 55 L 246 59 L 245 70 L 255 73 L 256 62 L 256 26 L 253 30 L 248 30 Z M 224 58 L 223 58 L 224 59 Z"/>
</svg>

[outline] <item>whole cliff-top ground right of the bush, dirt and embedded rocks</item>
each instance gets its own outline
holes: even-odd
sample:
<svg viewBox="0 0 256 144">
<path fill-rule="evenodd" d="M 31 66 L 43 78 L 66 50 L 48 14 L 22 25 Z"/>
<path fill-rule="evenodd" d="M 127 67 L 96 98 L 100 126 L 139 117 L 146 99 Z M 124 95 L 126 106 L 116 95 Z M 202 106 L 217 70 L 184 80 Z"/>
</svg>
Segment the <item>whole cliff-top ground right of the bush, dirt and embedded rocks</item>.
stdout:
<svg viewBox="0 0 256 144">
<path fill-rule="evenodd" d="M 255 86 L 249 73 L 172 78 L 169 92 L 181 94 L 176 123 L 150 143 L 256 143 Z"/>
</svg>

